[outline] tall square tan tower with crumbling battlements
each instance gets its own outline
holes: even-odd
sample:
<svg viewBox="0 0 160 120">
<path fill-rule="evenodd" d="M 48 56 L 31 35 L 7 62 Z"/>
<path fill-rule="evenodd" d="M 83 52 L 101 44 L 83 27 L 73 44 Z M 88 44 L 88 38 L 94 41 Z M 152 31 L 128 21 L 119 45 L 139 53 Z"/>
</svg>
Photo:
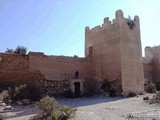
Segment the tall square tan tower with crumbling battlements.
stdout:
<svg viewBox="0 0 160 120">
<path fill-rule="evenodd" d="M 124 94 L 144 90 L 139 17 L 123 17 L 121 10 L 111 22 L 85 28 L 85 56 L 92 60 L 92 79 L 115 81 L 115 89 Z"/>
</svg>

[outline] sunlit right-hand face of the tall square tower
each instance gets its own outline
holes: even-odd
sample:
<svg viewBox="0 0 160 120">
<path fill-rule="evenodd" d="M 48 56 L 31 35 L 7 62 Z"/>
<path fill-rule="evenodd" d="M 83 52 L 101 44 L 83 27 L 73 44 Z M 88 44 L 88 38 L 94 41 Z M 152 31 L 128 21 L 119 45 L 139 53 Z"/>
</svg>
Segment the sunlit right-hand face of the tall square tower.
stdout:
<svg viewBox="0 0 160 120">
<path fill-rule="evenodd" d="M 139 17 L 134 17 L 135 26 L 130 29 L 127 19 L 120 18 L 122 85 L 124 93 L 144 91 L 144 73 Z"/>
</svg>

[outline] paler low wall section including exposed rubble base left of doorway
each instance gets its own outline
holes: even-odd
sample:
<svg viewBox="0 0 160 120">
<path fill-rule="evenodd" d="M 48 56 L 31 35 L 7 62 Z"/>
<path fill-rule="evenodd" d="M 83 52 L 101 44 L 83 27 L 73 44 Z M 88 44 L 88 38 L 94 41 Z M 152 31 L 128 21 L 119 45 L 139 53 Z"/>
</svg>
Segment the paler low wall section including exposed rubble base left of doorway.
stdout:
<svg viewBox="0 0 160 120">
<path fill-rule="evenodd" d="M 46 56 L 43 53 L 29 53 L 29 67 L 31 71 L 42 73 L 46 81 L 44 84 L 50 91 L 61 93 L 62 90 L 71 88 L 71 81 L 79 72 L 78 79 L 89 80 L 90 60 L 66 56 Z M 77 79 L 77 80 L 78 80 Z"/>
</svg>

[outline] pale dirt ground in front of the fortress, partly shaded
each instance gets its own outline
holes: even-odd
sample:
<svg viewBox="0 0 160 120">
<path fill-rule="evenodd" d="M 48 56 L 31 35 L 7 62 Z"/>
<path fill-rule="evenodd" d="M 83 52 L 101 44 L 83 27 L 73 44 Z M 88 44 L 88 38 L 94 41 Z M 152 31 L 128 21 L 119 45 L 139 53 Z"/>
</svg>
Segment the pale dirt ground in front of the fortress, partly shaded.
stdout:
<svg viewBox="0 0 160 120">
<path fill-rule="evenodd" d="M 153 94 L 132 98 L 94 95 L 57 100 L 59 104 L 77 108 L 75 117 L 70 120 L 160 120 L 160 105 L 144 102 L 144 96 L 151 97 Z M 5 114 L 7 120 L 28 120 L 36 113 L 35 105 L 15 106 L 8 111 L 4 111 L 2 106 L 0 108 L 0 114 Z"/>
</svg>

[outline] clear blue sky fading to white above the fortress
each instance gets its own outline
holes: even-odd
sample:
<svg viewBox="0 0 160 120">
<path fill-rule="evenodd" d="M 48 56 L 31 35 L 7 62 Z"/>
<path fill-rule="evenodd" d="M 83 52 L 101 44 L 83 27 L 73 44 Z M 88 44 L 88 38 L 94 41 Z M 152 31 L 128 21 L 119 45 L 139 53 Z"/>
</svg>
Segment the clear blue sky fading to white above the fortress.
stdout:
<svg viewBox="0 0 160 120">
<path fill-rule="evenodd" d="M 0 0 L 0 52 L 18 45 L 48 55 L 84 56 L 84 30 L 140 17 L 142 48 L 160 45 L 160 0 Z"/>
</svg>

